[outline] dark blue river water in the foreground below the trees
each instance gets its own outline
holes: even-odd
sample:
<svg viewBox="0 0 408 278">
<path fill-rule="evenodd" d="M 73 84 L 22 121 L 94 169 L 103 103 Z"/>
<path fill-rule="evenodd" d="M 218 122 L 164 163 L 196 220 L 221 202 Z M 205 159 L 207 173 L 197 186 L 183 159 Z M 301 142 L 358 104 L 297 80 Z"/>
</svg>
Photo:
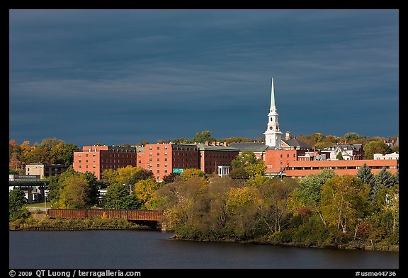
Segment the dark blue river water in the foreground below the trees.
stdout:
<svg viewBox="0 0 408 278">
<path fill-rule="evenodd" d="M 169 239 L 161 231 L 10 231 L 11 269 L 397 269 L 399 253 Z"/>
</svg>

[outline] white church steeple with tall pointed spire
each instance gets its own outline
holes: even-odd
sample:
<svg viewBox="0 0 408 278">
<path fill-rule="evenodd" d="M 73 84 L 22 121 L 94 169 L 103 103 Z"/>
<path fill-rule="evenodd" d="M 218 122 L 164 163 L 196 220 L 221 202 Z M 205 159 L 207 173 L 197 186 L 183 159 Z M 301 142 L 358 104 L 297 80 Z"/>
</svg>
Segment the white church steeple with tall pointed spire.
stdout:
<svg viewBox="0 0 408 278">
<path fill-rule="evenodd" d="M 278 113 L 276 112 L 275 105 L 275 90 L 273 89 L 273 78 L 271 87 L 271 108 L 268 114 L 268 126 L 266 127 L 265 144 L 271 149 L 282 149 L 280 146 L 280 139 L 282 138 L 282 132 L 280 132 L 278 124 Z"/>
</svg>

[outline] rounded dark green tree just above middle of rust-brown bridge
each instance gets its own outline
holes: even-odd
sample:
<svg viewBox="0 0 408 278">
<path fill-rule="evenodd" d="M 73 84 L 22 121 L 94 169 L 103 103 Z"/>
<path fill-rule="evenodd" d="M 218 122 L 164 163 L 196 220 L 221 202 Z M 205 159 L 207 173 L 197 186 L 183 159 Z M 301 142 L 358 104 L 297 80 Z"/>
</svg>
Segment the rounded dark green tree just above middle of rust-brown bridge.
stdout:
<svg viewBox="0 0 408 278">
<path fill-rule="evenodd" d="M 140 209 L 142 202 L 136 195 L 130 195 L 130 188 L 122 183 L 113 183 L 102 198 L 104 209 Z"/>
</svg>

